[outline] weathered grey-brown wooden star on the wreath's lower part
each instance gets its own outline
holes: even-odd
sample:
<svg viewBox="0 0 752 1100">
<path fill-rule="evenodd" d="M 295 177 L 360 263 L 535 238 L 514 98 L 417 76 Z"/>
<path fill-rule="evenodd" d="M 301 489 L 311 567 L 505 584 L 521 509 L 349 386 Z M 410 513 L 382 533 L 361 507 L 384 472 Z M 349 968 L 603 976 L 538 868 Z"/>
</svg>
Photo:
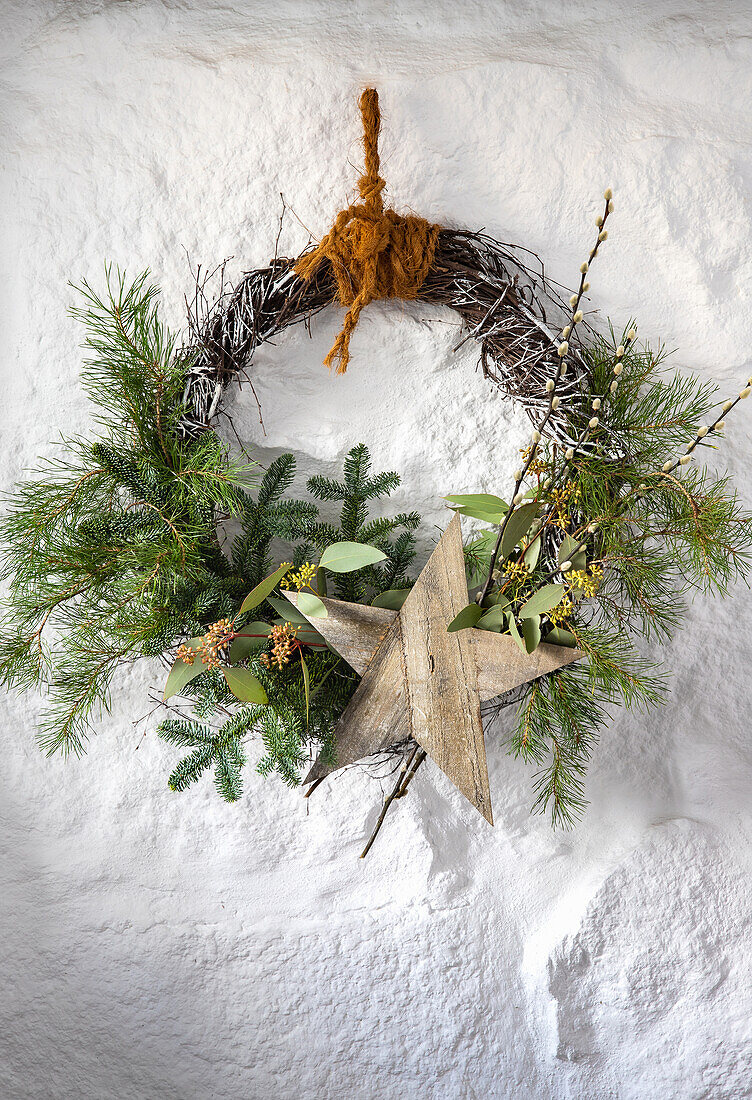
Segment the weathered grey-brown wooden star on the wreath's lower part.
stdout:
<svg viewBox="0 0 752 1100">
<path fill-rule="evenodd" d="M 412 737 L 493 824 L 480 703 L 585 653 L 545 644 L 523 653 L 508 635 L 447 631 L 467 604 L 458 516 L 399 612 L 323 603 L 328 617 L 311 625 L 363 679 L 334 729 L 335 762 L 319 756 L 306 783 Z"/>
</svg>

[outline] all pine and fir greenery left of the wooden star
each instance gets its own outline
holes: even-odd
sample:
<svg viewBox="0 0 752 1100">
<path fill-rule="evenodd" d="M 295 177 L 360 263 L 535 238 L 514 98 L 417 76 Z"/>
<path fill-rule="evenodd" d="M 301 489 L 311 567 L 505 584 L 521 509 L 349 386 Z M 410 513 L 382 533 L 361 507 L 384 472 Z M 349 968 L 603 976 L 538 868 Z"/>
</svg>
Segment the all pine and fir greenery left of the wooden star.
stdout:
<svg viewBox="0 0 752 1100">
<path fill-rule="evenodd" d="M 85 283 L 74 310 L 86 327 L 82 377 L 97 406 L 96 435 L 63 440 L 8 502 L 0 528 L 2 576 L 9 581 L 0 682 L 46 689 L 40 740 L 51 752 L 84 750 L 91 718 L 109 706 L 112 678 L 123 666 L 164 654 L 178 640 L 236 616 L 270 572 L 275 540 L 297 541 L 298 563 L 312 543 L 324 549 L 340 540 L 336 529 L 325 538 L 316 504 L 286 496 L 295 476 L 291 454 L 270 464 L 254 499 L 247 490 L 258 481 L 255 464 L 234 462 L 211 431 L 184 438 L 179 421 L 189 361 L 159 321 L 156 288 L 146 274 L 128 283 L 109 267 L 104 282 L 102 296 Z M 368 522 L 368 501 L 399 483 L 390 473 L 369 477 L 368 465 L 365 447 L 349 455 L 342 537 L 389 554 L 347 574 L 351 591 L 379 593 L 409 585 L 409 532 L 418 517 Z M 327 496 L 329 483 L 318 484 Z M 230 559 L 217 531 L 228 517 L 241 528 Z M 395 542 L 387 549 L 391 534 Z M 253 610 L 264 626 L 276 615 L 269 593 L 259 592 L 245 612 Z M 233 683 L 247 697 L 266 693 L 268 706 L 240 706 L 217 670 L 196 670 L 190 683 L 179 678 L 178 690 L 195 701 L 199 721 L 164 727 L 173 740 L 195 738 L 185 741 L 192 751 L 172 777 L 176 790 L 213 767 L 218 790 L 236 798 L 240 746 L 252 729 L 266 746 L 262 769 L 277 770 L 288 782 L 297 781 L 312 744 L 328 744 L 357 678 L 334 654 L 311 649 L 320 645 L 313 631 L 300 637 L 310 672 L 308 707 L 300 660 L 283 670 L 264 669 L 250 647 Z M 226 712 L 230 718 L 219 729 L 206 725 Z"/>
</svg>

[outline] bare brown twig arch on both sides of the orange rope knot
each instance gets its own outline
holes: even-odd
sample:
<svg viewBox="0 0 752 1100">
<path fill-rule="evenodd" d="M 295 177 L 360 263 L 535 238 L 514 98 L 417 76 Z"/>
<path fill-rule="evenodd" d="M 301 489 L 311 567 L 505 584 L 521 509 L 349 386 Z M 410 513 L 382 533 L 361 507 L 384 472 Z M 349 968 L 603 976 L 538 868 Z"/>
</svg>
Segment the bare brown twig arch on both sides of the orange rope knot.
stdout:
<svg viewBox="0 0 752 1100">
<path fill-rule="evenodd" d="M 303 253 L 303 256 L 308 253 Z M 554 319 L 564 309 L 556 285 L 537 257 L 502 244 L 483 232 L 442 229 L 433 266 L 416 299 L 446 306 L 460 315 L 468 340 L 479 345 L 484 377 L 523 408 L 534 424 L 546 407 L 545 382 L 556 363 L 559 340 Z M 186 378 L 186 436 L 213 426 L 228 386 L 251 377 L 256 350 L 292 324 L 308 323 L 339 304 L 331 272 L 320 268 L 310 280 L 296 272 L 300 257 L 278 257 L 246 273 L 211 307 L 198 284 L 189 307 L 193 359 Z M 584 370 L 578 365 L 560 393 L 578 393 Z M 571 441 L 566 419 L 555 417 L 550 433 Z"/>
</svg>

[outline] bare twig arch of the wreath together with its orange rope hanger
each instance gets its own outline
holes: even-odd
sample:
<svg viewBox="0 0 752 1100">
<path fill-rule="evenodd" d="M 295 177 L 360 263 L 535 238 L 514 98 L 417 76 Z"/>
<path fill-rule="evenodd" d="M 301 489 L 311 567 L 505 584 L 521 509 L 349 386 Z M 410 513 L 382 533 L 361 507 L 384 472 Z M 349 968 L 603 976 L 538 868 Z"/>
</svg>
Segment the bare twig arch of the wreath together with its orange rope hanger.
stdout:
<svg viewBox="0 0 752 1100">
<path fill-rule="evenodd" d="M 476 340 L 485 377 L 534 421 L 548 410 L 545 382 L 557 363 L 559 339 L 546 311 L 563 305 L 557 288 L 542 265 L 533 270 L 532 253 L 527 253 L 526 263 L 524 250 L 486 233 L 446 229 L 385 209 L 376 90 L 366 89 L 360 106 L 365 147 L 361 202 L 342 210 L 321 242 L 297 260 L 275 257 L 267 267 L 248 272 L 207 318 L 201 318 L 197 301 L 197 354 L 187 378 L 189 411 L 183 421 L 187 435 L 212 424 L 224 388 L 244 376 L 261 344 L 334 304 L 347 307 L 347 314 L 324 363 L 336 364 L 338 373 L 346 371 L 358 318 L 379 298 L 451 307 L 466 329 L 454 350 L 467 339 Z M 559 387 L 562 402 L 579 388 L 576 340 L 572 361 L 572 374 Z M 548 432 L 569 439 L 564 418 L 556 414 Z"/>
</svg>

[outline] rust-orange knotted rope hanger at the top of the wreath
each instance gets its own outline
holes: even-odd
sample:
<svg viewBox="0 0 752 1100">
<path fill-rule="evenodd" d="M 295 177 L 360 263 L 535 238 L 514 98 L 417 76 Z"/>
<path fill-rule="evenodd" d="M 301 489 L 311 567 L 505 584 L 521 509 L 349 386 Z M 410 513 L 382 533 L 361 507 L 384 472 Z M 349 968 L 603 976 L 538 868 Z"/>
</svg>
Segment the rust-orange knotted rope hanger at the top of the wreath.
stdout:
<svg viewBox="0 0 752 1100">
<path fill-rule="evenodd" d="M 336 361 L 338 374 L 347 370 L 350 338 L 371 301 L 418 297 L 433 263 L 441 230 L 441 226 L 416 215 L 402 216 L 384 209 L 381 191 L 386 183 L 379 176 L 378 156 L 381 113 L 375 88 L 366 88 L 360 106 L 365 148 L 365 172 L 357 184 L 362 201 L 341 210 L 329 233 L 295 267 L 301 278 L 309 279 L 328 260 L 336 283 L 338 301 L 350 307 L 342 331 L 324 359 L 329 367 Z"/>
</svg>

